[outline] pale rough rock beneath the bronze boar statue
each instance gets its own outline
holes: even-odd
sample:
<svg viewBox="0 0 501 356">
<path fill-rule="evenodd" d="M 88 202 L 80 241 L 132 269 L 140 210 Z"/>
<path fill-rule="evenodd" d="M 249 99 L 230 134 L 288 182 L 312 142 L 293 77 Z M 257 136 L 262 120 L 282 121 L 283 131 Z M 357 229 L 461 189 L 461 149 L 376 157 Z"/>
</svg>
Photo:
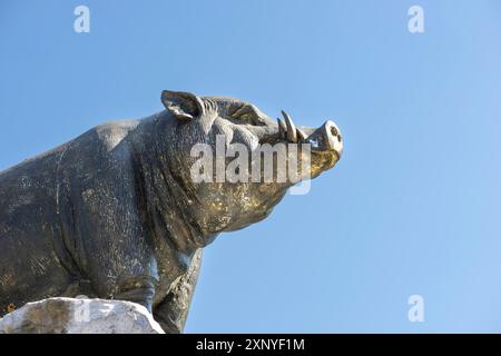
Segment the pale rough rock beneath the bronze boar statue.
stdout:
<svg viewBox="0 0 501 356">
<path fill-rule="evenodd" d="M 0 319 L 0 334 L 165 334 L 151 314 L 122 300 L 50 298 Z"/>
</svg>

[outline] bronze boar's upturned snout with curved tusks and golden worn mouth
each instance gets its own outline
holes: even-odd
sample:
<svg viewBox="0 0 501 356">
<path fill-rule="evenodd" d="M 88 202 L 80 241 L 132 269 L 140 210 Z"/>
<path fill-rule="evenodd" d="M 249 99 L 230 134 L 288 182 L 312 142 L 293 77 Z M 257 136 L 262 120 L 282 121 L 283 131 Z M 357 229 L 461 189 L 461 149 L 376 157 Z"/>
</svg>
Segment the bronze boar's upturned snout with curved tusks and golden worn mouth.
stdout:
<svg viewBox="0 0 501 356">
<path fill-rule="evenodd" d="M 315 178 L 321 172 L 335 166 L 343 155 L 343 141 L 337 126 L 327 120 L 317 129 L 296 127 L 294 121 L 282 111 L 284 120 L 277 119 L 277 131 L 267 137 L 266 141 L 271 144 L 287 142 L 310 144 L 311 149 L 311 177 Z"/>
</svg>

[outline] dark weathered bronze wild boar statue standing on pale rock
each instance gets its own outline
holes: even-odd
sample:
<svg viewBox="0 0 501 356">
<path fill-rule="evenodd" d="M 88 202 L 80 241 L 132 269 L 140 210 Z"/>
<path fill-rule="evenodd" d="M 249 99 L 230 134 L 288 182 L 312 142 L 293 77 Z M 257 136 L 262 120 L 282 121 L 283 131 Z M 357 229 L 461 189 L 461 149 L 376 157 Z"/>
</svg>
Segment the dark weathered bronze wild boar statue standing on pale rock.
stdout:
<svg viewBox="0 0 501 356">
<path fill-rule="evenodd" d="M 327 121 L 296 128 L 240 100 L 164 91 L 166 110 L 98 126 L 0 171 L 0 316 L 27 301 L 87 295 L 139 303 L 183 330 L 202 248 L 267 217 L 285 182 L 194 182 L 195 144 L 252 151 L 311 142 L 312 176 L 342 155 Z"/>
</svg>

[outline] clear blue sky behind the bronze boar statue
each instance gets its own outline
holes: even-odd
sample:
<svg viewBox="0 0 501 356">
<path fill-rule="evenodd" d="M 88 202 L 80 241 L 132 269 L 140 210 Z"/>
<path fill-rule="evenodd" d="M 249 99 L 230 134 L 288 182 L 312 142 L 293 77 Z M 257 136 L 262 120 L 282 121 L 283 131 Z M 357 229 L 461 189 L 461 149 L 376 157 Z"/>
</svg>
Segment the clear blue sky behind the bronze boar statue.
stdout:
<svg viewBox="0 0 501 356">
<path fill-rule="evenodd" d="M 186 332 L 501 332 L 500 1 L 1 1 L 0 169 L 163 89 L 334 119 L 345 142 L 206 249 Z"/>
</svg>

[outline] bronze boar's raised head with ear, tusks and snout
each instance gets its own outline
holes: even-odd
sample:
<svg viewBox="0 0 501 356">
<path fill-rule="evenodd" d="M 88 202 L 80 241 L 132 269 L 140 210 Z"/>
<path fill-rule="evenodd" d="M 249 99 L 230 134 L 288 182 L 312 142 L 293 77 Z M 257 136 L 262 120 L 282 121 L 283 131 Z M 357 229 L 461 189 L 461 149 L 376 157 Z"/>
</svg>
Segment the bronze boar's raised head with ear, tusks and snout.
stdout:
<svg viewBox="0 0 501 356">
<path fill-rule="evenodd" d="M 196 229 L 204 236 L 240 229 L 264 219 L 282 200 L 287 188 L 297 182 L 288 175 L 278 181 L 277 176 L 284 166 L 277 156 L 272 159 L 274 180 L 264 181 L 265 158 L 259 165 L 255 165 L 258 155 L 253 158 L 253 152 L 262 145 L 275 147 L 283 144 L 287 162 L 296 159 L 297 169 L 303 175 L 302 164 L 310 164 L 306 166 L 311 168 L 312 178 L 334 167 L 343 151 L 341 132 L 332 121 L 317 129 L 297 127 L 285 112 L 284 120 L 275 121 L 248 102 L 188 92 L 165 90 L 161 101 L 166 111 L 159 120 L 167 122 L 163 128 L 167 142 L 163 148 L 166 152 L 163 159 L 170 167 L 176 185 L 184 191 L 186 204 L 178 202 L 186 205 L 184 209 L 194 216 L 191 224 L 196 224 Z M 220 144 L 230 157 L 224 157 L 225 151 L 216 151 Z M 291 144 L 299 144 L 298 155 L 291 154 Z M 306 149 L 301 144 L 310 144 L 308 158 L 302 158 L 306 157 L 303 155 Z M 232 145 L 237 146 L 233 155 Z M 240 157 L 243 155 L 247 155 L 247 159 Z M 242 159 L 238 160 L 239 166 L 237 158 Z M 204 162 L 209 162 L 210 167 Z M 250 172 L 253 169 L 259 171 Z M 247 170 L 248 179 L 245 179 L 243 170 Z M 228 177 L 228 172 L 235 172 L 236 179 L 235 176 Z"/>
</svg>

